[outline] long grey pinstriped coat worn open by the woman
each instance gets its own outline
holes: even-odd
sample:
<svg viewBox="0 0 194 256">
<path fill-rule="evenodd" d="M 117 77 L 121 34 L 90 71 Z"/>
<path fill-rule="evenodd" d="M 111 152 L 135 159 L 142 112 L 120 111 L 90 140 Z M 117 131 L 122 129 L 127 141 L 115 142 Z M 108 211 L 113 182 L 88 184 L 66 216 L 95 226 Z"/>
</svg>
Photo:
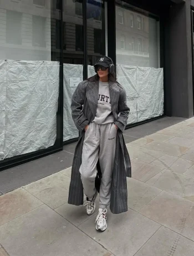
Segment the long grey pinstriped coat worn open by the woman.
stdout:
<svg viewBox="0 0 194 256">
<path fill-rule="evenodd" d="M 111 110 L 115 117 L 115 124 L 119 127 L 116 137 L 115 164 L 111 185 L 110 210 L 112 213 L 127 211 L 127 184 L 126 176 L 131 177 L 131 162 L 126 149 L 122 132 L 125 130 L 129 107 L 126 105 L 125 89 L 116 82 L 109 82 Z M 84 142 L 84 127 L 94 120 L 98 105 L 99 82 L 83 81 L 79 83 L 72 97 L 72 117 L 80 137 L 75 148 L 72 178 L 69 187 L 68 203 L 83 204 L 83 185 L 81 183 L 79 168 Z M 120 115 L 119 115 L 120 113 Z M 98 170 L 98 174 L 100 170 Z M 100 176 L 100 174 L 99 174 Z"/>
</svg>

